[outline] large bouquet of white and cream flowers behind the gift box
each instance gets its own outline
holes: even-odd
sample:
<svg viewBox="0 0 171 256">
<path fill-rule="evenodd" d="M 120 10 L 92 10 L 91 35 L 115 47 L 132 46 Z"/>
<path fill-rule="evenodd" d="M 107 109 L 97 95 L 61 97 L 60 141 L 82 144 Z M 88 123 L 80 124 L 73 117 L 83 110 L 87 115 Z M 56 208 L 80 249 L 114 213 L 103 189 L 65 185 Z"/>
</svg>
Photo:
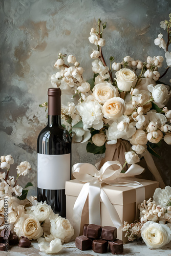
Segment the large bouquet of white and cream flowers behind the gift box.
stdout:
<svg viewBox="0 0 171 256">
<path fill-rule="evenodd" d="M 97 48 L 90 55 L 94 59 L 93 78 L 86 81 L 76 57 L 69 55 L 67 63 L 66 54 L 62 53 L 58 54 L 54 65 L 58 72 L 51 76 L 52 86 L 59 87 L 67 101 L 62 105 L 61 118 L 73 142 L 88 142 L 90 153 L 106 151 L 106 157 L 112 154 L 108 160 L 119 160 L 124 170 L 127 168 L 125 164 L 139 162 L 142 156 L 150 167 L 153 159 L 149 158 L 148 152 L 158 156 L 154 148 L 162 139 L 171 144 L 171 110 L 164 106 L 170 90 L 160 80 L 171 66 L 171 53 L 168 52 L 171 14 L 169 20 L 161 22 L 161 27 L 166 29 L 168 41 L 166 44 L 163 35 L 159 34 L 155 45 L 165 51 L 168 67 L 164 74 L 159 73 L 163 56 L 148 56 L 146 61 L 126 56 L 120 62 L 114 62 L 111 56 L 108 67 L 102 53 L 106 23 L 102 24 L 98 19 L 97 28 L 91 29 L 89 37 Z M 48 104 L 45 102 L 40 106 L 47 109 Z M 152 173 L 160 177 L 154 162 L 151 169 L 155 169 Z M 156 179 L 164 187 L 158 177 Z"/>
</svg>

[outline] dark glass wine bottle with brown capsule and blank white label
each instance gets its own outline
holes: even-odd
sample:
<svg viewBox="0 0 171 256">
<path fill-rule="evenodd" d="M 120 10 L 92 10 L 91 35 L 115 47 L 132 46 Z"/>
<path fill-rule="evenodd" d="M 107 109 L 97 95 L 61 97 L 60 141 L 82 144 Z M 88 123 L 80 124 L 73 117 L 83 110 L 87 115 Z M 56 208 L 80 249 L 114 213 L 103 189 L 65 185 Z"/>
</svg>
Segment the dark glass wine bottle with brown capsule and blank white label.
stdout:
<svg viewBox="0 0 171 256">
<path fill-rule="evenodd" d="M 48 89 L 48 125 L 37 139 L 37 201 L 66 217 L 65 182 L 71 179 L 71 137 L 61 125 L 60 88 Z"/>
</svg>

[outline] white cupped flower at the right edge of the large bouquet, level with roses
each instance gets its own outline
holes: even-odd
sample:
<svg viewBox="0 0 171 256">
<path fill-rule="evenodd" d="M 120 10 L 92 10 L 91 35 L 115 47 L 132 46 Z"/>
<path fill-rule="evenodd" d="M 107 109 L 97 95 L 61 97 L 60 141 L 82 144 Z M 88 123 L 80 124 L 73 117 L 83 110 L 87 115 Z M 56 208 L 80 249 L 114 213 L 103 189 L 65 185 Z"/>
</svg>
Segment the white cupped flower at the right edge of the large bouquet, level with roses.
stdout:
<svg viewBox="0 0 171 256">
<path fill-rule="evenodd" d="M 148 91 L 152 93 L 154 101 L 157 103 L 164 103 L 169 98 L 169 93 L 164 84 L 149 84 Z"/>
</svg>

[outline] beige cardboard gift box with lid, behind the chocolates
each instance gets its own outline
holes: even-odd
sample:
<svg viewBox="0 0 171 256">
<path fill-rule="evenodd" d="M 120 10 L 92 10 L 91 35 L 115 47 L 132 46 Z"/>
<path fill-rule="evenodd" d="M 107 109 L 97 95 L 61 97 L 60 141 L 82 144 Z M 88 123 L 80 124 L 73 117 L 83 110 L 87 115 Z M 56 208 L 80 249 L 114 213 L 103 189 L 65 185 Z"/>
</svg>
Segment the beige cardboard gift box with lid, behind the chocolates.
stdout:
<svg viewBox="0 0 171 256">
<path fill-rule="evenodd" d="M 130 178 L 129 178 L 130 179 Z M 132 178 L 134 181 L 140 182 L 145 188 L 145 199 L 153 197 L 154 191 L 159 187 L 159 182 L 151 180 L 143 180 Z M 67 219 L 73 223 L 73 207 L 75 201 L 81 191 L 83 183 L 78 180 L 70 180 L 66 182 L 66 208 Z M 102 184 L 102 188 L 105 194 L 108 196 L 111 203 L 114 205 L 121 222 L 127 221 L 132 223 L 136 219 L 136 189 L 132 187 L 124 186 L 110 186 Z M 137 188 L 138 189 L 138 188 Z M 101 226 L 114 226 L 108 209 L 100 199 L 100 214 L 101 214 Z M 76 221 L 76 220 L 74 220 Z M 80 235 L 84 224 L 89 224 L 89 202 L 88 198 L 82 210 Z M 118 239 L 121 239 L 124 243 L 127 242 L 127 238 L 124 237 L 125 232 L 122 231 L 122 226 L 117 230 Z"/>
</svg>

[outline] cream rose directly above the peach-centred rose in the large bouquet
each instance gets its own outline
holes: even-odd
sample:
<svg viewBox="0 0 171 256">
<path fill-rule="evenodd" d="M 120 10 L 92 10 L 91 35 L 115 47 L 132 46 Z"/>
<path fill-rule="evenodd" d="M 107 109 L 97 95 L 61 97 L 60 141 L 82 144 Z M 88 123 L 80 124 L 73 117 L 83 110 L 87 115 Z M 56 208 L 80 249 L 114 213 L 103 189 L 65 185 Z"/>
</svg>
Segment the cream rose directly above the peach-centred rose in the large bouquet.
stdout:
<svg viewBox="0 0 171 256">
<path fill-rule="evenodd" d="M 109 82 L 102 82 L 95 85 L 93 88 L 94 98 L 100 102 L 105 103 L 106 100 L 119 95 L 118 89 L 112 86 Z"/>
</svg>

